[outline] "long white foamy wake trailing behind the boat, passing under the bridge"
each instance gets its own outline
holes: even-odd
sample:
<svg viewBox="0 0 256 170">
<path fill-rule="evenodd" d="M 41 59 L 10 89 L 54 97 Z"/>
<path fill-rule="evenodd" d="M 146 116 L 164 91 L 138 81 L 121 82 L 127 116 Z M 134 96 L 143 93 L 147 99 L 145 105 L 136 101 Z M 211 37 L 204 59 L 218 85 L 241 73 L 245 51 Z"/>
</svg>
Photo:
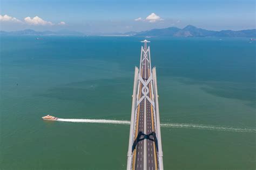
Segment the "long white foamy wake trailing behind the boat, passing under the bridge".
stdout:
<svg viewBox="0 0 256 170">
<path fill-rule="evenodd" d="M 125 124 L 129 125 L 130 121 L 118 121 L 109 119 L 62 119 L 61 122 L 80 122 L 80 123 L 106 123 L 106 124 Z M 255 128 L 235 128 L 231 126 L 203 125 L 203 124 L 184 124 L 184 123 L 161 123 L 163 128 L 186 128 L 186 129 L 202 129 L 202 130 L 219 130 L 233 132 L 256 132 Z"/>
</svg>

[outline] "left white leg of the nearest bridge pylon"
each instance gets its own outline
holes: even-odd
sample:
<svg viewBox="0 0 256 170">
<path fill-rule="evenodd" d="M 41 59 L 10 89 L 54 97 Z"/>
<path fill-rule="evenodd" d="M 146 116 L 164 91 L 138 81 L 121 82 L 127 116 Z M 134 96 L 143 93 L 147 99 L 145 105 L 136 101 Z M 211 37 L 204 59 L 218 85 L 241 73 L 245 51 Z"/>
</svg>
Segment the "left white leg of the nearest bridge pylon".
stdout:
<svg viewBox="0 0 256 170">
<path fill-rule="evenodd" d="M 134 82 L 133 82 L 133 93 L 132 93 L 132 111 L 131 111 L 131 125 L 130 125 L 130 137 L 129 137 L 129 148 L 127 153 L 127 170 L 132 168 L 132 144 L 133 144 L 133 132 L 134 122 L 136 122 L 136 101 L 137 101 L 137 87 L 138 87 L 138 74 L 139 69 L 135 67 L 134 71 Z"/>
</svg>

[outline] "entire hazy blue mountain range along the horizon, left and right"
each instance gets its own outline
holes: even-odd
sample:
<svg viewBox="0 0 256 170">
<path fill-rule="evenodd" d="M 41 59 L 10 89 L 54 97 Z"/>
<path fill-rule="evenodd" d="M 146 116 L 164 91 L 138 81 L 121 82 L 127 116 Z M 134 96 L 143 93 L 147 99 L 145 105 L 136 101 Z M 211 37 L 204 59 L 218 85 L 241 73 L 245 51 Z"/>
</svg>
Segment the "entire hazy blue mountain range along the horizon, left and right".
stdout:
<svg viewBox="0 0 256 170">
<path fill-rule="evenodd" d="M 0 31 L 0 35 L 6 36 L 84 36 L 85 34 L 77 31 L 60 30 L 57 32 L 53 31 L 34 31 L 34 30 L 23 30 L 23 31 Z M 94 34 L 97 36 L 97 34 Z M 183 29 L 178 27 L 168 27 L 166 29 L 153 29 L 142 32 L 126 32 L 126 33 L 111 33 L 111 34 L 100 34 L 100 36 L 139 36 L 139 37 L 256 37 L 256 29 L 253 30 L 223 30 L 223 31 L 210 31 L 199 29 L 193 25 L 187 25 Z"/>
</svg>

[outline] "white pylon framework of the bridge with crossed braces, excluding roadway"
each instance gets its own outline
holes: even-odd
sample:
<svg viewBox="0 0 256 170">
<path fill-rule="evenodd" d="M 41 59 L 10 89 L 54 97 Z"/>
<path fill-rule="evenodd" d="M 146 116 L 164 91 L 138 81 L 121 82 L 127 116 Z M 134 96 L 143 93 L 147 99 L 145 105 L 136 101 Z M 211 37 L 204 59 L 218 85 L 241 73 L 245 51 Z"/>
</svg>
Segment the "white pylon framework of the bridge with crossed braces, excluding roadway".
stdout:
<svg viewBox="0 0 256 170">
<path fill-rule="evenodd" d="M 157 76 L 156 68 L 151 68 L 151 56 L 150 47 L 147 47 L 147 43 L 150 41 L 141 41 L 144 43 L 144 47 L 141 48 L 140 53 L 140 65 L 139 68 L 135 67 L 134 72 L 134 83 L 133 83 L 133 95 L 132 95 L 132 110 L 131 110 L 131 125 L 130 125 L 130 138 L 129 138 L 129 149 L 127 153 L 127 169 L 133 169 L 133 142 L 136 139 L 136 122 L 138 114 L 138 106 L 146 98 L 152 105 L 153 112 L 153 125 L 157 138 L 157 162 L 158 169 L 164 169 L 163 167 L 163 151 L 161 147 L 161 133 L 160 133 L 160 120 L 159 120 L 159 108 L 158 108 L 158 91 L 157 91 Z M 146 60 L 146 61 L 145 61 Z M 143 67 L 143 65 L 145 65 Z M 145 69 L 145 70 L 142 70 Z M 146 70 L 147 69 L 147 70 Z M 144 73 L 144 75 L 142 74 Z M 146 73 L 149 75 L 146 76 Z M 146 78 L 147 77 L 147 78 Z M 150 88 L 149 89 L 149 84 Z M 141 87 L 141 95 L 139 98 L 139 91 Z M 149 93 L 151 93 L 149 95 Z M 149 97 L 152 96 L 152 97 Z M 144 167 L 145 168 L 145 167 Z"/>
</svg>

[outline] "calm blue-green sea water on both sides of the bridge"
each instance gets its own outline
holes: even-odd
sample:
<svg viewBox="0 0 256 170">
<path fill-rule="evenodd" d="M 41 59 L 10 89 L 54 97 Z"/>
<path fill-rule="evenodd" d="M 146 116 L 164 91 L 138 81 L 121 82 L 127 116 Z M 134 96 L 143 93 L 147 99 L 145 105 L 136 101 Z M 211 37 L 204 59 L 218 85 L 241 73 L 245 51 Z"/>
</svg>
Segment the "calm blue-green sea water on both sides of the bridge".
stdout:
<svg viewBox="0 0 256 170">
<path fill-rule="evenodd" d="M 0 169 L 126 169 L 143 38 L 0 37 Z M 161 123 L 255 127 L 255 41 L 149 38 Z M 161 128 L 165 169 L 255 169 L 255 131 Z"/>
</svg>

